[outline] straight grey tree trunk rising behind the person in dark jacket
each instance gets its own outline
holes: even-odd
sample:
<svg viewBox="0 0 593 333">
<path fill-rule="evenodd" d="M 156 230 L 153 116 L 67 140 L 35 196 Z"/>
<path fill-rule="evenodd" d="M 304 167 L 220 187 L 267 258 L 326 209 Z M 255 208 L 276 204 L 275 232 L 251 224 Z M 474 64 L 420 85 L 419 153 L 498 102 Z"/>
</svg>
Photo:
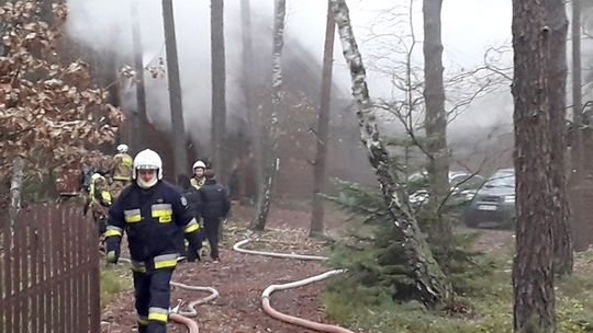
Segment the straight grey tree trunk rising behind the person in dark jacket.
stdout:
<svg viewBox="0 0 593 333">
<path fill-rule="evenodd" d="M 226 65 L 224 50 L 224 0 L 211 0 L 210 45 L 212 65 L 212 160 L 220 181 L 228 182 L 227 163 L 223 162 L 226 147 Z"/>
</svg>

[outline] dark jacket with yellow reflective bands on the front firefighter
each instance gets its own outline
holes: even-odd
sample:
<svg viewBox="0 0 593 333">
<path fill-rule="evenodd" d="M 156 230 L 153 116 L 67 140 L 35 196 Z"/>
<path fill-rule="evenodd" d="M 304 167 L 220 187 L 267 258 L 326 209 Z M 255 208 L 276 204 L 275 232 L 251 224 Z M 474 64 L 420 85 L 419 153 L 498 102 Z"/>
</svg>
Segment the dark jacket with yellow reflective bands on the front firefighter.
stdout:
<svg viewBox="0 0 593 333">
<path fill-rule="evenodd" d="M 190 244 L 195 243 L 199 229 L 186 197 L 174 185 L 159 181 L 144 190 L 132 183 L 109 209 L 108 252 L 119 253 L 125 231 L 133 269 L 175 267 L 179 234 L 184 233 Z"/>
</svg>

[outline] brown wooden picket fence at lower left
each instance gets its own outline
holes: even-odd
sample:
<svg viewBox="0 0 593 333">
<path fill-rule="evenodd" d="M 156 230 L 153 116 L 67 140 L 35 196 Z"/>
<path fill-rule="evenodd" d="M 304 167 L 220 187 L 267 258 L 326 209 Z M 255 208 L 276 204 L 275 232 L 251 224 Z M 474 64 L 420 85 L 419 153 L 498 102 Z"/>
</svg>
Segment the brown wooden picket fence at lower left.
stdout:
<svg viewBox="0 0 593 333">
<path fill-rule="evenodd" d="M 0 332 L 99 333 L 93 225 L 71 208 L 32 207 L 0 231 Z"/>
</svg>

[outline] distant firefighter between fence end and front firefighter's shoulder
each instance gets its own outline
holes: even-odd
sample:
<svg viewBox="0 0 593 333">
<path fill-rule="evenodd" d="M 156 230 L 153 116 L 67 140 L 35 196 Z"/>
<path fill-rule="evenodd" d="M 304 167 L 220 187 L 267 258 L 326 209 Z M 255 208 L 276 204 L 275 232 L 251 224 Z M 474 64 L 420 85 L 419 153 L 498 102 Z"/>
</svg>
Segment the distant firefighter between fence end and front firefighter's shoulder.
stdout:
<svg viewBox="0 0 593 333">
<path fill-rule="evenodd" d="M 109 193 L 105 177 L 99 173 L 92 174 L 85 211 L 90 208 L 92 218 L 99 230 L 101 243 L 103 243 L 103 234 L 107 231 L 108 209 L 111 206 L 111 193 Z"/>
</svg>

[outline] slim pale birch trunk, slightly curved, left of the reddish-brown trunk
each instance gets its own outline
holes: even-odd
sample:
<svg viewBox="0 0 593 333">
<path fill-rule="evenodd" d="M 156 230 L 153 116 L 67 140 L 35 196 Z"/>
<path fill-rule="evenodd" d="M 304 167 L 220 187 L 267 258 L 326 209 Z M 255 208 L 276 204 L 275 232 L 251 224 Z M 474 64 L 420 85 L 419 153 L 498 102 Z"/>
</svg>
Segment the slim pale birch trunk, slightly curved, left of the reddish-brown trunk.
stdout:
<svg viewBox="0 0 593 333">
<path fill-rule="evenodd" d="M 265 172 L 265 183 L 261 187 L 261 193 L 257 198 L 257 211 L 256 217 L 251 223 L 251 229 L 254 230 L 264 230 L 266 228 L 266 222 L 268 220 L 268 214 L 270 211 L 271 196 L 272 196 L 272 185 L 276 180 L 276 174 L 278 173 L 279 159 L 277 156 L 278 147 L 278 136 L 279 136 L 279 124 L 278 115 L 282 106 L 282 68 L 281 68 L 281 56 L 282 47 L 284 46 L 284 15 L 286 15 L 286 0 L 276 0 L 275 1 L 275 19 L 273 19 L 273 44 L 272 44 L 272 92 L 271 92 L 271 104 L 272 113 L 269 117 L 270 122 L 268 124 L 269 133 L 266 140 L 266 151 L 268 153 L 265 157 L 266 168 Z"/>
</svg>

